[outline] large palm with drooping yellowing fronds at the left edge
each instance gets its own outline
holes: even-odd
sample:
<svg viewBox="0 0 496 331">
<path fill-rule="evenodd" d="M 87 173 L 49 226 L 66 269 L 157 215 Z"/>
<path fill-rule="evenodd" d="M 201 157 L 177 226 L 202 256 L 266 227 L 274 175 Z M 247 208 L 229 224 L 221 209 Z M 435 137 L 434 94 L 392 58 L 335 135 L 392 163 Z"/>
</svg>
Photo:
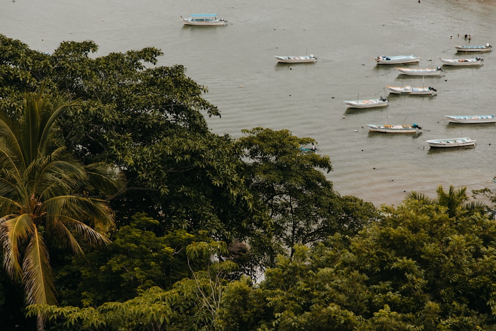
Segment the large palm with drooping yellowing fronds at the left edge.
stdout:
<svg viewBox="0 0 496 331">
<path fill-rule="evenodd" d="M 104 245 L 102 233 L 113 225 L 107 202 L 89 192 L 118 189 L 117 173 L 104 164 L 82 165 L 63 146 L 54 146 L 57 118 L 74 104 L 63 98 L 50 102 L 42 88 L 26 95 L 20 119 L 0 111 L 3 266 L 22 283 L 29 304 L 57 303 L 48 240 L 82 253 L 79 242 Z"/>
</svg>

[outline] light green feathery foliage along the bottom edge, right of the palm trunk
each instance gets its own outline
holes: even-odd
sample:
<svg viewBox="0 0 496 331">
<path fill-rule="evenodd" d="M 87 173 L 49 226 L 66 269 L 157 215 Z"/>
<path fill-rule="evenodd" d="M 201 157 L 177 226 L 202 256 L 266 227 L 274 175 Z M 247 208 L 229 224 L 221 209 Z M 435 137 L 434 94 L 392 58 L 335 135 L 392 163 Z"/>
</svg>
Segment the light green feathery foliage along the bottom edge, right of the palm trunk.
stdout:
<svg viewBox="0 0 496 331">
<path fill-rule="evenodd" d="M 28 316 L 46 316 L 50 330 L 221 330 L 217 312 L 227 284 L 223 276 L 237 266 L 212 258 L 227 253 L 223 242 L 193 242 L 186 247 L 192 276 L 169 291 L 154 286 L 133 299 L 99 307 L 31 305 Z M 205 268 L 194 271 L 193 264 Z"/>
</svg>

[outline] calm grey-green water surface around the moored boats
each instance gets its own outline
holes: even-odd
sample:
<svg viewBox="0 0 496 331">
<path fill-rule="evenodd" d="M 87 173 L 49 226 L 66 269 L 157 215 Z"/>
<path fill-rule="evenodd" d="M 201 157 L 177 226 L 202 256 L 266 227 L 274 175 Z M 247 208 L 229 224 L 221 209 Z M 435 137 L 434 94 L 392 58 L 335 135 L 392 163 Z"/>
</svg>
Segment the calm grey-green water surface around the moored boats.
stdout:
<svg viewBox="0 0 496 331">
<path fill-rule="evenodd" d="M 216 12 L 227 26 L 184 26 L 180 16 Z M 158 65 L 182 64 L 206 85 L 222 118 L 213 132 L 289 129 L 317 140 L 341 195 L 398 204 L 406 192 L 435 195 L 441 184 L 495 188 L 494 124 L 453 125 L 444 115 L 495 114 L 495 52 L 481 67 L 445 67 L 440 77 L 398 75 L 372 57 L 409 55 L 419 65 L 460 58 L 455 45 L 496 46 L 496 1 L 476 0 L 87 0 L 4 1 L 0 33 L 53 52 L 62 41 L 93 40 L 111 52 L 156 47 Z M 458 36 L 458 34 L 460 36 Z M 314 54 L 315 64 L 281 65 L 274 55 Z M 470 57 L 470 55 L 469 55 Z M 346 110 L 343 100 L 386 94 L 385 85 L 433 86 L 435 96 L 390 95 L 386 108 Z M 367 124 L 412 124 L 419 135 L 368 132 Z M 429 149 L 428 139 L 469 136 L 475 148 Z"/>
</svg>

